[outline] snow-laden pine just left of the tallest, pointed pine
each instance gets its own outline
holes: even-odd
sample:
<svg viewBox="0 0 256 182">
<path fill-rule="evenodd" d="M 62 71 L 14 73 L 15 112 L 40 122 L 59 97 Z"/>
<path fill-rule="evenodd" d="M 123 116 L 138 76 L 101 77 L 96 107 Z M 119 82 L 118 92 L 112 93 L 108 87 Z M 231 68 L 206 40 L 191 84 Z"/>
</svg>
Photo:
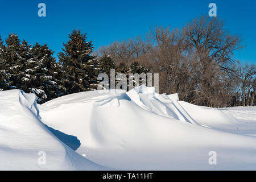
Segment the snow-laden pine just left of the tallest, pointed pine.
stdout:
<svg viewBox="0 0 256 182">
<path fill-rule="evenodd" d="M 24 64 L 23 85 L 27 92 L 33 92 L 38 96 L 41 104 L 53 98 L 63 95 L 65 88 L 56 77 L 56 60 L 53 52 L 47 44 L 40 46 L 38 43 L 30 49 L 31 59 Z"/>
</svg>

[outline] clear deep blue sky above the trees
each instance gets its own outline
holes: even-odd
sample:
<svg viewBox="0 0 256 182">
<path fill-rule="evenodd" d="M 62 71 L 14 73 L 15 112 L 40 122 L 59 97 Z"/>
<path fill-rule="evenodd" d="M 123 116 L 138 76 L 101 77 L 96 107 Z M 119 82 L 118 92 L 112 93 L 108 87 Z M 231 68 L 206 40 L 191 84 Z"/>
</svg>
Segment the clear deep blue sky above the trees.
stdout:
<svg viewBox="0 0 256 182">
<path fill-rule="evenodd" d="M 46 17 L 38 16 L 38 4 L 46 4 Z M 72 0 L 1 1 L 0 35 L 16 33 L 30 44 L 47 43 L 57 52 L 67 42 L 73 28 L 81 28 L 93 40 L 95 49 L 115 40 L 144 35 L 150 28 L 180 28 L 196 16 L 208 15 L 208 5 L 217 4 L 217 14 L 226 30 L 241 35 L 246 46 L 235 58 L 256 63 L 256 1 L 254 0 Z"/>
</svg>

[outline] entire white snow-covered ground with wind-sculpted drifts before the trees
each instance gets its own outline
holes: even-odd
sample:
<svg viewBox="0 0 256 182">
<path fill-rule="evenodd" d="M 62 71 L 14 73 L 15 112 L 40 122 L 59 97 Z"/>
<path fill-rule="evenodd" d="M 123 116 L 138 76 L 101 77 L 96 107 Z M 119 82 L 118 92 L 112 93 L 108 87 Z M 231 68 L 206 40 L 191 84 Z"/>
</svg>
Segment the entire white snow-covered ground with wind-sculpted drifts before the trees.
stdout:
<svg viewBox="0 0 256 182">
<path fill-rule="evenodd" d="M 43 105 L 3 91 L 0 169 L 255 170 L 256 107 L 200 107 L 145 86 Z"/>
</svg>

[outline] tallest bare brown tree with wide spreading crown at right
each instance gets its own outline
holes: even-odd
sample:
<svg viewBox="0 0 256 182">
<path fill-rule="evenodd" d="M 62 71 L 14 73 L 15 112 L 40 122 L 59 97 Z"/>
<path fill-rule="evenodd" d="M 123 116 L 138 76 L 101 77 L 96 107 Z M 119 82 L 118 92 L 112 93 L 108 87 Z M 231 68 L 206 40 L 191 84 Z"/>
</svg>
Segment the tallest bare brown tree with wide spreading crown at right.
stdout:
<svg viewBox="0 0 256 182">
<path fill-rule="evenodd" d="M 199 67 L 197 104 L 214 106 L 225 87 L 225 72 L 232 67 L 233 51 L 241 48 L 238 36 L 224 31 L 224 23 L 218 18 L 201 16 L 183 28 L 184 44 L 192 49 Z"/>
</svg>

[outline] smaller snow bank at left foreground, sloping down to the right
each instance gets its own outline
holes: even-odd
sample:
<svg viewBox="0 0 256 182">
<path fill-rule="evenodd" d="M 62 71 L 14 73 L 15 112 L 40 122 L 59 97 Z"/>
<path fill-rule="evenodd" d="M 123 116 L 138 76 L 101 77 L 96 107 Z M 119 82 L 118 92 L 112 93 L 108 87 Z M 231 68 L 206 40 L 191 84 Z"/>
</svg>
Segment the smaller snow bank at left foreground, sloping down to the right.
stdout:
<svg viewBox="0 0 256 182">
<path fill-rule="evenodd" d="M 44 154 L 46 164 L 40 163 Z M 0 92 L 0 170 L 80 169 L 104 168 L 77 154 L 44 126 L 35 94 Z"/>
</svg>

